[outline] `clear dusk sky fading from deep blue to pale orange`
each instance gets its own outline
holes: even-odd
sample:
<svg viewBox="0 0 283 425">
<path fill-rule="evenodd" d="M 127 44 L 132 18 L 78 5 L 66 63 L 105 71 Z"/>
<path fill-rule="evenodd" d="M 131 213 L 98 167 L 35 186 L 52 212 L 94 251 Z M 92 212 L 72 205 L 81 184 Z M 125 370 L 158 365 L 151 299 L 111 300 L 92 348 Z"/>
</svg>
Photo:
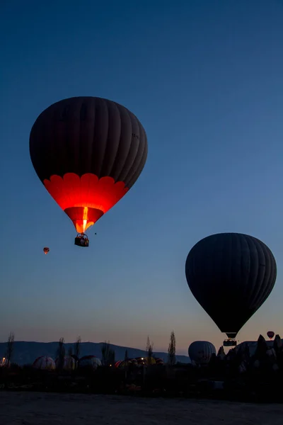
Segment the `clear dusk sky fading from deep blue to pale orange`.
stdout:
<svg viewBox="0 0 283 425">
<path fill-rule="evenodd" d="M 225 231 L 262 239 L 278 266 L 239 339 L 283 334 L 282 22 L 275 0 L 1 1 L 1 340 L 144 348 L 149 334 L 166 349 L 174 329 L 179 353 L 219 345 L 184 268 L 192 245 Z M 37 115 L 71 96 L 122 103 L 149 142 L 86 250 L 28 149 Z"/>
</svg>

